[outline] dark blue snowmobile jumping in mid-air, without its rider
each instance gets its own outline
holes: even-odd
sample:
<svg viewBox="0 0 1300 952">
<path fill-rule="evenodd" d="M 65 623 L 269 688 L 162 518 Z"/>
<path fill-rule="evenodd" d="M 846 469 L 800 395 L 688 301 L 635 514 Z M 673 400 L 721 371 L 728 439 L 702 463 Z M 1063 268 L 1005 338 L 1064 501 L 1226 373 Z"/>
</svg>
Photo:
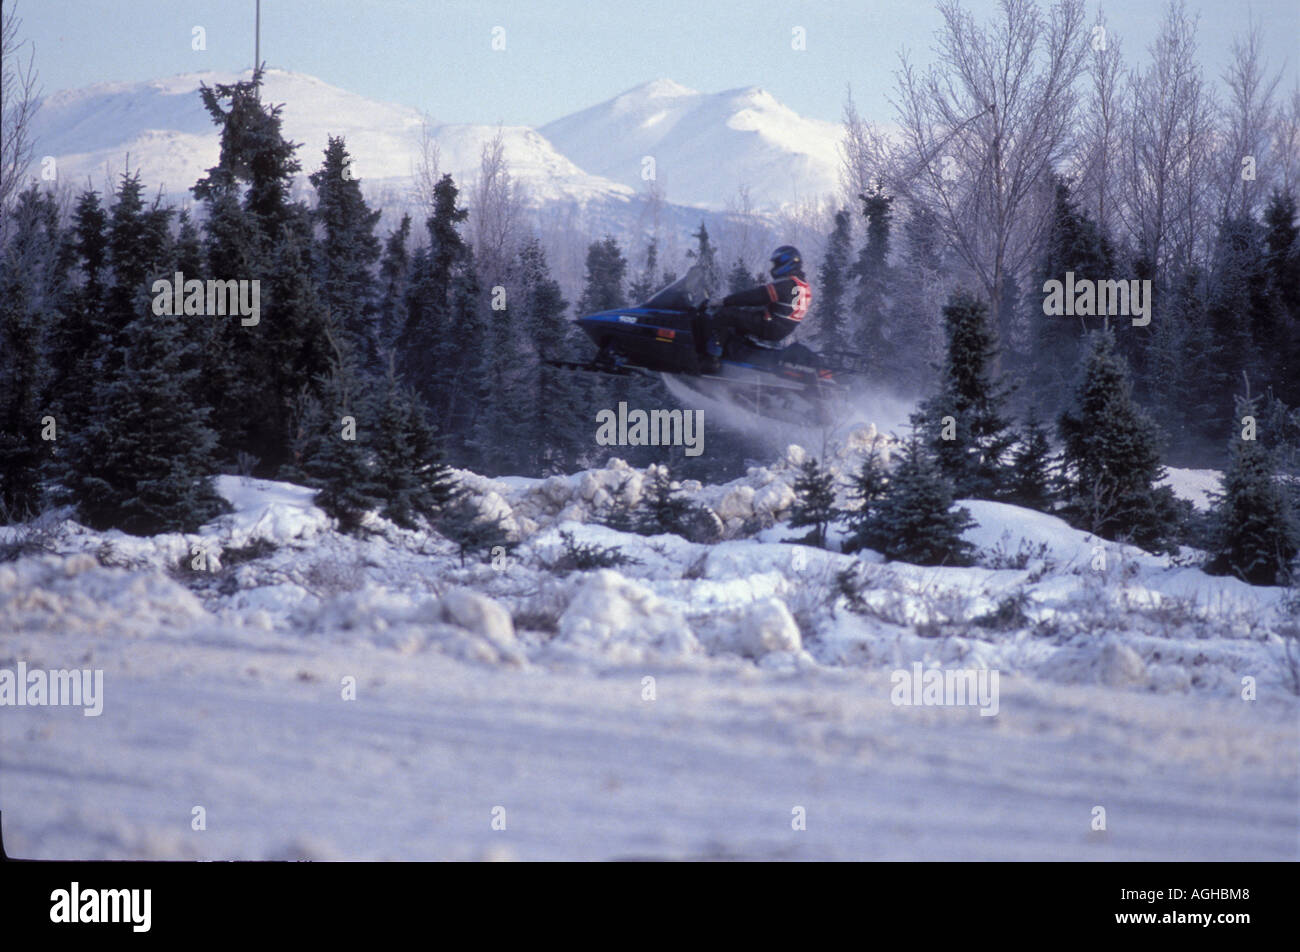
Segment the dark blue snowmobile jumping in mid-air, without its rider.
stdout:
<svg viewBox="0 0 1300 952">
<path fill-rule="evenodd" d="M 559 367 L 615 376 L 663 373 L 711 401 L 724 401 L 762 417 L 793 424 L 831 424 L 848 402 L 850 377 L 866 372 L 859 354 L 816 354 L 802 343 L 777 346 L 733 333 L 716 369 L 696 346 L 708 333 L 705 273 L 694 265 L 636 307 L 577 319 L 597 346 L 586 362 Z"/>
</svg>

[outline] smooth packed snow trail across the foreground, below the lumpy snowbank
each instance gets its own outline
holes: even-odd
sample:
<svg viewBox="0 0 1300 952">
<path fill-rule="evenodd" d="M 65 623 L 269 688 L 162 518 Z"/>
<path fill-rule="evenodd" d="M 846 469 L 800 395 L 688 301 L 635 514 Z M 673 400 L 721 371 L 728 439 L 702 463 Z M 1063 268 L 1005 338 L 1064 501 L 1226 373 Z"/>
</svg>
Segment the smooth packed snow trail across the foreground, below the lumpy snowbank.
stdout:
<svg viewBox="0 0 1300 952">
<path fill-rule="evenodd" d="M 592 678 L 238 639 L 131 646 L 120 668 L 98 719 L 5 711 L 10 854 L 1297 858 L 1295 719 L 1240 702 L 1006 679 L 982 718 L 896 707 L 863 671 Z"/>
</svg>

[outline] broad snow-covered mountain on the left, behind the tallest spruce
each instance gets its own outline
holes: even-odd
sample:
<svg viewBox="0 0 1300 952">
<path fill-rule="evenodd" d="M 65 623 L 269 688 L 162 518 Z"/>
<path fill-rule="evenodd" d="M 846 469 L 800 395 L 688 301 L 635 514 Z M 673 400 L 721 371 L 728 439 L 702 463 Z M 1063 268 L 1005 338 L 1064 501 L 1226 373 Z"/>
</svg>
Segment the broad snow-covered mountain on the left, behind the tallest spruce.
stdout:
<svg viewBox="0 0 1300 952">
<path fill-rule="evenodd" d="M 42 104 L 36 155 L 55 156 L 64 181 L 81 185 L 88 177 L 103 186 L 107 176 L 129 166 L 140 170 L 150 189 L 181 195 L 216 164 L 220 152 L 218 131 L 199 100 L 199 85 L 247 75 L 186 73 L 57 92 Z M 280 69 L 268 70 L 264 99 L 285 104 L 285 134 L 303 143 L 299 159 L 304 174 L 318 165 L 328 137 L 343 135 L 363 183 L 399 191 L 410 186 L 420 156 L 422 120 L 417 111 Z M 441 170 L 468 181 L 497 126 L 436 124 L 432 133 Z M 526 126 L 504 126 L 502 134 L 511 169 L 534 202 L 625 200 L 630 194 L 625 186 L 584 172 Z"/>
</svg>

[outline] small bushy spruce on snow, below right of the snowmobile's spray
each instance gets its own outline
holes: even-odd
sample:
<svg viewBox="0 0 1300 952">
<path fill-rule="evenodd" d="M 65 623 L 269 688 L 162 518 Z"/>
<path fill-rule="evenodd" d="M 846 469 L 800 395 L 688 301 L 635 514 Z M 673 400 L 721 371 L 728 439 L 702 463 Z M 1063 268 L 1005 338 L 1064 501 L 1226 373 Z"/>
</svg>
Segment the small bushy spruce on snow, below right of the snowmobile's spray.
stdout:
<svg viewBox="0 0 1300 952">
<path fill-rule="evenodd" d="M 918 566 L 965 566 L 974 546 L 962 532 L 975 525 L 970 511 L 953 509 L 953 489 L 916 433 L 866 520 L 866 540 L 888 559 Z M 855 540 L 857 541 L 857 540 Z"/>
</svg>

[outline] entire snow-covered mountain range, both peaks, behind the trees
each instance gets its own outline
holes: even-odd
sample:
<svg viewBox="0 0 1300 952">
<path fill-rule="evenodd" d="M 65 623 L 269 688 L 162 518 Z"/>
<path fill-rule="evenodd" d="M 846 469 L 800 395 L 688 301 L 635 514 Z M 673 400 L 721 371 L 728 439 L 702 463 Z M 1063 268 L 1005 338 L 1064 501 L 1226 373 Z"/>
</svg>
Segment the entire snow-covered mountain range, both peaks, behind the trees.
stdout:
<svg viewBox="0 0 1300 952">
<path fill-rule="evenodd" d="M 53 94 L 38 114 L 35 155 L 55 156 L 60 179 L 77 186 L 88 179 L 104 187 L 131 168 L 150 190 L 183 198 L 216 164 L 220 147 L 199 85 L 247 75 L 186 73 Z M 343 135 L 368 190 L 408 192 L 420 155 L 416 109 L 281 69 L 268 70 L 264 98 L 285 104 L 285 133 L 303 143 L 304 174 L 318 164 L 326 138 Z M 482 146 L 497 131 L 494 125 L 434 122 L 441 170 L 472 179 Z M 654 156 L 658 181 L 676 205 L 722 209 L 745 185 L 755 208 L 775 209 L 835 187 L 837 127 L 803 118 L 754 87 L 703 94 L 659 79 L 541 129 L 500 131 L 511 169 L 536 205 L 627 205 L 646 190 L 646 155 Z"/>
</svg>

